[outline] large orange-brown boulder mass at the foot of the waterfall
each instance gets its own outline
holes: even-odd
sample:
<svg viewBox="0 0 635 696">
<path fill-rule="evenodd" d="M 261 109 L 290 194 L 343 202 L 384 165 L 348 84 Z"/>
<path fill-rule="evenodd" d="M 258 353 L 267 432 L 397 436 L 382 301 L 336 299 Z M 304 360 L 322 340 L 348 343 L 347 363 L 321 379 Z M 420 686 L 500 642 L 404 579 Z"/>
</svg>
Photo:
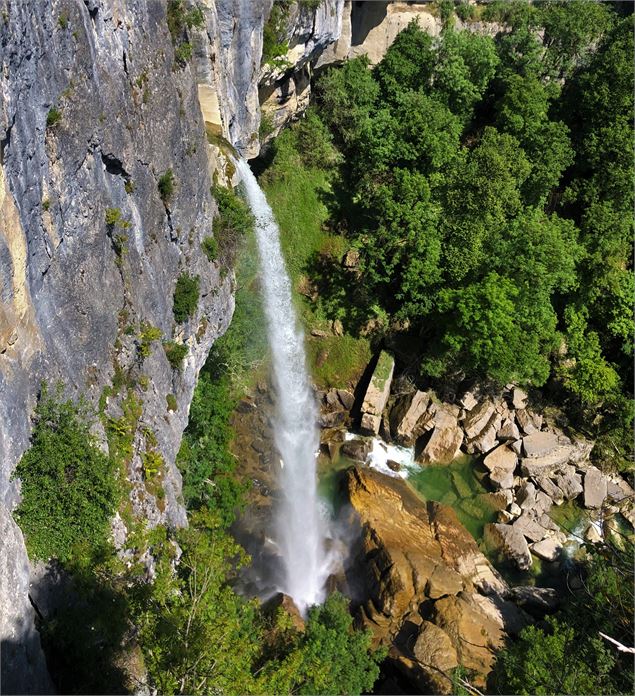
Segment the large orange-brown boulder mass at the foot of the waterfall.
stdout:
<svg viewBox="0 0 635 696">
<path fill-rule="evenodd" d="M 508 588 L 473 537 L 450 508 L 423 503 L 400 479 L 355 467 L 345 488 L 361 530 L 351 572 L 363 581 L 361 621 L 392 643 L 390 659 L 424 693 L 450 693 L 457 661 L 483 685 L 506 626 L 525 617 L 501 608 Z"/>
</svg>

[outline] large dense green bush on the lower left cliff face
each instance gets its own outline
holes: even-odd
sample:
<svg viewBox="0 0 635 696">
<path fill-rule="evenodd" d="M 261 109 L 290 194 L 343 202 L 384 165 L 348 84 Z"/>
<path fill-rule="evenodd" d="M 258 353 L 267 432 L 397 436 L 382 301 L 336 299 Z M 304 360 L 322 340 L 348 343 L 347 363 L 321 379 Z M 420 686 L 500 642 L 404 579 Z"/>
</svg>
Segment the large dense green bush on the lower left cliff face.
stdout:
<svg viewBox="0 0 635 696">
<path fill-rule="evenodd" d="M 95 549 L 107 542 L 118 487 L 91 427 L 82 403 L 42 387 L 31 446 L 15 470 L 22 481 L 16 516 L 32 558 L 70 561 L 86 542 Z"/>
</svg>

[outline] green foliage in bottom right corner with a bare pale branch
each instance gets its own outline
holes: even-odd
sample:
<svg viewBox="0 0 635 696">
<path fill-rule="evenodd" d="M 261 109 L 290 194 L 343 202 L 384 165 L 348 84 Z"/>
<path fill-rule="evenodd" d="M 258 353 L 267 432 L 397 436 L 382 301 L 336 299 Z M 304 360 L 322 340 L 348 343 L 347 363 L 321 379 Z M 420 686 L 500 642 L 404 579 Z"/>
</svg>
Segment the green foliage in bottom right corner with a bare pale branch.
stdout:
<svg viewBox="0 0 635 696">
<path fill-rule="evenodd" d="M 617 694 L 633 690 L 632 658 L 599 631 L 626 645 L 633 636 L 632 547 L 595 551 L 584 584 L 558 617 L 523 629 L 498 657 L 493 687 L 513 694 Z"/>
</svg>

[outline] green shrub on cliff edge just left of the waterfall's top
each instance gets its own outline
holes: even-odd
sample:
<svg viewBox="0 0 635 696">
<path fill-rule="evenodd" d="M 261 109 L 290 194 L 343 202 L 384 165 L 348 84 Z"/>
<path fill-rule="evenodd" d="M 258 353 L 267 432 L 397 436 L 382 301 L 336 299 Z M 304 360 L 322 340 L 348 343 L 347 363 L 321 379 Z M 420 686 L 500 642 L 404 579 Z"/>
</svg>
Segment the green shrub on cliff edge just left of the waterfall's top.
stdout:
<svg viewBox="0 0 635 696">
<path fill-rule="evenodd" d="M 237 251 L 253 228 L 254 218 L 247 203 L 231 189 L 212 186 L 211 193 L 218 204 L 218 216 L 212 227 L 217 246 L 214 258 L 226 268 L 233 268 Z"/>
</svg>

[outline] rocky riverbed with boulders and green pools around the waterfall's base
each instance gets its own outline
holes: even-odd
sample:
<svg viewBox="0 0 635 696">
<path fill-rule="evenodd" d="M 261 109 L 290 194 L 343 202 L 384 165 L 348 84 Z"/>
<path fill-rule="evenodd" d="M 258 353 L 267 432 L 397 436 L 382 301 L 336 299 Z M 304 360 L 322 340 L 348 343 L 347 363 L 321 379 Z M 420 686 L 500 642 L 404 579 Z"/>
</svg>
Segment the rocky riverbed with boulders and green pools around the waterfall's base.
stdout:
<svg viewBox="0 0 635 696">
<path fill-rule="evenodd" d="M 556 427 L 514 385 L 448 402 L 395 378 L 387 353 L 368 372 L 355 389 L 316 390 L 320 471 L 347 530 L 331 585 L 352 597 L 359 624 L 389 649 L 386 668 L 413 688 L 449 693 L 459 664 L 484 686 L 506 636 L 557 608 L 557 591 L 529 571 L 557 573 L 572 541 L 600 543 L 618 519 L 632 525 L 633 490 L 590 463 L 592 442 Z M 260 583 L 261 594 L 276 566 L 270 403 L 260 384 L 234 416 L 253 483 L 236 532 L 255 559 L 245 589 Z M 441 477 L 428 491 L 428 475 L 444 471 L 453 492 L 443 494 Z M 483 511 L 481 523 L 466 528 L 466 510 Z M 577 538 L 557 523 L 561 510 L 588 520 Z M 499 572 L 510 567 L 520 586 Z"/>
</svg>

